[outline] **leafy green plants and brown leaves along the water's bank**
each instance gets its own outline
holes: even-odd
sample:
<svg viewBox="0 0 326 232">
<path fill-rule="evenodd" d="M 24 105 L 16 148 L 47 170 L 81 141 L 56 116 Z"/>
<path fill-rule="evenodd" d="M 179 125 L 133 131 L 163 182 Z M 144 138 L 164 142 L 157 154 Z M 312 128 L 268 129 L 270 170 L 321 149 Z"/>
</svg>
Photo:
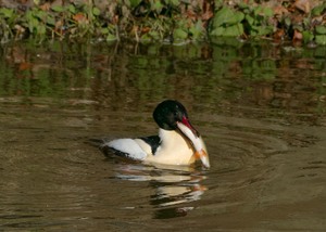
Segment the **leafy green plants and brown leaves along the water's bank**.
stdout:
<svg viewBox="0 0 326 232">
<path fill-rule="evenodd" d="M 67 37 L 184 43 L 238 37 L 326 44 L 326 2 L 323 0 L 62 2 L 34 0 L 25 10 L 20 5 L 2 5 L 1 42 L 25 37 L 39 40 Z"/>
</svg>

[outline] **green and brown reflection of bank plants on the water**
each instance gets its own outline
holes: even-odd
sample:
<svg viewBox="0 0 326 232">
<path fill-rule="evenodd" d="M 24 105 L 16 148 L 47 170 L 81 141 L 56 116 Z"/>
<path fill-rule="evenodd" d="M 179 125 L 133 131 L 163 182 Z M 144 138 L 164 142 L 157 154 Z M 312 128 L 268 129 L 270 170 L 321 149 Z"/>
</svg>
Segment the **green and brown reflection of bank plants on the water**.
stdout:
<svg viewBox="0 0 326 232">
<path fill-rule="evenodd" d="M 247 117 L 251 111 L 264 117 L 268 108 L 271 116 L 316 120 L 317 115 L 308 114 L 324 112 L 324 47 L 285 50 L 271 43 L 221 42 L 136 48 L 58 41 L 5 46 L 0 93 L 11 101 L 22 96 L 26 104 L 33 104 L 34 96 L 50 96 L 61 104 L 92 104 L 99 111 L 147 111 L 170 96 L 200 103 L 190 104 L 196 112 L 216 106 L 215 113 L 231 114 L 242 106 Z"/>
</svg>

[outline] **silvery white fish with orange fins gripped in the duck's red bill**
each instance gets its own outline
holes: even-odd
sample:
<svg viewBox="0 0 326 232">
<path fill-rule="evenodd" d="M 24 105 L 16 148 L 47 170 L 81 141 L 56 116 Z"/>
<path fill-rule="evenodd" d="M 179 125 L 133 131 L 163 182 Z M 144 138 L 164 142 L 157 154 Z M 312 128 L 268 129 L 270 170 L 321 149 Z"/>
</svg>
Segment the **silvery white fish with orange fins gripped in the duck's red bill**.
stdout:
<svg viewBox="0 0 326 232">
<path fill-rule="evenodd" d="M 189 121 L 187 124 L 184 124 L 184 121 L 177 123 L 177 127 L 192 143 L 196 151 L 195 156 L 202 162 L 204 167 L 210 168 L 210 159 L 205 144 L 197 130 L 189 124 Z"/>
</svg>

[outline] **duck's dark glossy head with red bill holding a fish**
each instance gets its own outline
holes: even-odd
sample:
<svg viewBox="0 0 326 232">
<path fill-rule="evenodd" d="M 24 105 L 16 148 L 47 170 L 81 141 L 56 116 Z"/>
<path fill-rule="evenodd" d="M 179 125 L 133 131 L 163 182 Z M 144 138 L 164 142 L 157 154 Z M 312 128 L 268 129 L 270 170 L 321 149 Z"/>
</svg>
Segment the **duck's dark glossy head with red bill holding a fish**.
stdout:
<svg viewBox="0 0 326 232">
<path fill-rule="evenodd" d="M 187 109 L 178 101 L 166 100 L 160 103 L 153 113 L 153 118 L 160 128 L 175 130 L 180 133 L 192 146 L 195 155 L 209 168 L 210 159 L 205 144 L 200 133 L 189 121 Z"/>
</svg>

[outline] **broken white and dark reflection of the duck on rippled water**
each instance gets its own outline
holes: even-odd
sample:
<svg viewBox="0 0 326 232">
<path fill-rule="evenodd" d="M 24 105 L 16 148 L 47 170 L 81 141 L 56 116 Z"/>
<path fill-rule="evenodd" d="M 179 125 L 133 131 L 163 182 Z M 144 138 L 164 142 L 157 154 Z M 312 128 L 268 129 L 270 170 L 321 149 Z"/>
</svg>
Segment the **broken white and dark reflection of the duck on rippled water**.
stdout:
<svg viewBox="0 0 326 232">
<path fill-rule="evenodd" d="M 154 218 L 186 216 L 193 207 L 185 203 L 199 201 L 206 188 L 201 183 L 205 171 L 196 167 L 146 166 L 142 164 L 116 164 L 115 178 L 128 181 L 148 181 L 155 190 L 151 205 Z"/>
</svg>

